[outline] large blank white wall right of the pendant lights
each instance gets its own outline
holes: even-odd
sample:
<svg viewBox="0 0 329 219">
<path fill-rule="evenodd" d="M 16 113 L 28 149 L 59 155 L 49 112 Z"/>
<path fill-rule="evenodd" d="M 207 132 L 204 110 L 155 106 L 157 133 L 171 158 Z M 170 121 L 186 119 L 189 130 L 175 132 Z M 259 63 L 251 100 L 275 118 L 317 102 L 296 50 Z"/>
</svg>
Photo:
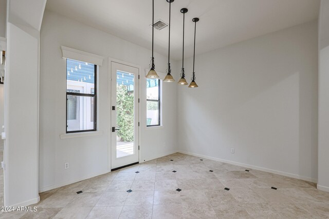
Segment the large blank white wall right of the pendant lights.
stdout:
<svg viewBox="0 0 329 219">
<path fill-rule="evenodd" d="M 199 87 L 177 90 L 179 150 L 316 181 L 317 43 L 314 21 L 196 56 Z"/>
</svg>

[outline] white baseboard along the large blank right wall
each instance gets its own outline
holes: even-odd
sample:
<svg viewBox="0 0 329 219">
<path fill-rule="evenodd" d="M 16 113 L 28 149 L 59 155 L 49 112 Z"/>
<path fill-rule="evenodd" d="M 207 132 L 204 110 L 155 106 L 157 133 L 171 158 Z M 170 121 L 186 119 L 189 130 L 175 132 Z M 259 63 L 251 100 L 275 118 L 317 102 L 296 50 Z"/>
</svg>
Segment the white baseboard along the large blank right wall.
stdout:
<svg viewBox="0 0 329 219">
<path fill-rule="evenodd" d="M 186 152 L 186 151 L 178 151 L 178 152 L 188 154 L 188 155 L 192 155 L 192 156 L 207 158 L 207 159 L 213 160 L 213 161 L 220 161 L 220 162 L 227 163 L 227 164 L 233 164 L 233 165 L 236 165 L 236 166 L 251 168 L 251 169 L 254 169 L 254 170 L 260 170 L 260 171 L 264 171 L 264 172 L 269 172 L 269 173 L 274 173 L 274 174 L 278 174 L 278 175 L 288 176 L 288 177 L 291 177 L 291 178 L 297 178 L 298 180 L 304 180 L 304 181 L 308 181 L 308 182 L 312 182 L 312 183 L 317 183 L 316 178 L 301 176 L 301 175 L 297 175 L 297 174 L 294 174 L 294 173 L 287 173 L 287 172 L 282 172 L 282 171 L 278 171 L 278 170 L 267 169 L 267 168 L 263 168 L 263 167 L 253 166 L 253 165 L 249 165 L 249 164 L 243 164 L 243 163 L 234 162 L 234 161 L 228 161 L 228 160 L 224 160 L 224 159 L 217 158 L 217 157 L 205 156 L 205 155 L 202 155 L 202 154 L 190 153 L 190 152 Z"/>
</svg>

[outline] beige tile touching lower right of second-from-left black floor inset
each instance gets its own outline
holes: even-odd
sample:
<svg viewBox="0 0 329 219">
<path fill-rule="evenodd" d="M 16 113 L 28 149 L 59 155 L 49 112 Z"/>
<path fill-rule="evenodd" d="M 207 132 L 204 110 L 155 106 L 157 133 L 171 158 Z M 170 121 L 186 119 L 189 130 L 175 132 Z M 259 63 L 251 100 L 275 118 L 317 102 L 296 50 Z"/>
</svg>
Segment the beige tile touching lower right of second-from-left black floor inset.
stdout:
<svg viewBox="0 0 329 219">
<path fill-rule="evenodd" d="M 129 193 L 124 205 L 153 205 L 154 191 L 132 191 Z"/>
</svg>

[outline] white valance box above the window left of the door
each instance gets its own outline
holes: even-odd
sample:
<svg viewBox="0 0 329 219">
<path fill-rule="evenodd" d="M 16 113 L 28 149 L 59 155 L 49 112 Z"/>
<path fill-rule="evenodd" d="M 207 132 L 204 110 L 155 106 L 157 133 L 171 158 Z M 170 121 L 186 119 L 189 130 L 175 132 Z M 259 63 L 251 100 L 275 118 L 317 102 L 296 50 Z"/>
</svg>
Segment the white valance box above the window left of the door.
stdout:
<svg viewBox="0 0 329 219">
<path fill-rule="evenodd" d="M 103 65 L 103 60 L 104 60 L 103 56 L 96 55 L 96 54 L 89 53 L 89 52 L 84 52 L 84 51 L 77 50 L 77 49 L 72 49 L 72 48 L 69 48 L 66 46 L 61 46 L 61 50 L 62 50 L 63 58 L 70 58 L 70 59 L 74 59 L 77 61 L 92 63 L 92 64 L 95 64 L 98 66 Z"/>
</svg>

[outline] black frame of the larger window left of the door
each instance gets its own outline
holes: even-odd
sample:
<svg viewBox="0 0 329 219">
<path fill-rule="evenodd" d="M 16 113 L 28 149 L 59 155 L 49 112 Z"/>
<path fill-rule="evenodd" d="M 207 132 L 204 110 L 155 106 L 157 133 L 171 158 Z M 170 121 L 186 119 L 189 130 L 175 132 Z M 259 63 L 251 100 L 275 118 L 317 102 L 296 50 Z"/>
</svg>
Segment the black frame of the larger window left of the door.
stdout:
<svg viewBox="0 0 329 219">
<path fill-rule="evenodd" d="M 74 59 L 72 59 L 74 60 Z M 78 60 L 77 60 L 78 61 Z M 81 62 L 81 61 L 79 61 Z M 67 59 L 66 59 L 66 69 L 67 69 Z M 66 73 L 65 69 L 65 73 Z M 87 94 L 87 93 L 74 93 L 74 92 L 67 92 L 67 74 L 66 74 L 66 133 L 77 133 L 77 132 L 90 132 L 90 131 L 97 131 L 97 65 L 94 64 L 94 94 Z M 86 129 L 86 130 L 76 130 L 76 131 L 67 131 L 67 101 L 68 96 L 86 96 L 86 97 L 94 97 L 94 129 Z M 91 102 L 90 102 L 91 104 Z"/>
</svg>

